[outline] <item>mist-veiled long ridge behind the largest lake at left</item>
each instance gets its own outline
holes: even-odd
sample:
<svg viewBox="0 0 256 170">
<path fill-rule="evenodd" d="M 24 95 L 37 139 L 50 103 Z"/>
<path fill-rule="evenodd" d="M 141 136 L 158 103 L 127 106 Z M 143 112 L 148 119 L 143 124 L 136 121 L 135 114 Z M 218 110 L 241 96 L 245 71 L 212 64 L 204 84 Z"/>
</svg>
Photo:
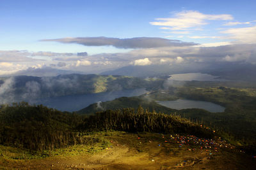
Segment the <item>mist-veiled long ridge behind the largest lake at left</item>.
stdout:
<svg viewBox="0 0 256 170">
<path fill-rule="evenodd" d="M 52 77 L 12 76 L 1 81 L 0 103 L 10 104 L 19 101 L 40 103 L 40 101 L 45 101 L 42 99 L 52 98 L 52 101 L 56 101 L 59 100 L 56 97 L 73 96 L 74 98 L 76 95 L 102 92 L 108 92 L 109 96 L 122 97 L 115 93 L 111 94 L 111 92 L 145 89 L 154 85 L 156 82 L 158 81 L 154 81 L 151 84 L 151 81 L 144 80 L 143 78 L 97 74 L 66 74 Z M 161 85 L 161 82 L 159 85 Z M 136 94 L 136 92 L 131 92 L 131 94 Z M 127 96 L 128 94 L 124 95 Z M 64 102 L 66 99 L 60 98 L 60 100 Z M 76 99 L 74 98 L 73 100 L 70 103 L 76 105 Z M 102 100 L 104 100 L 104 97 L 99 96 L 99 100 L 93 102 Z"/>
</svg>

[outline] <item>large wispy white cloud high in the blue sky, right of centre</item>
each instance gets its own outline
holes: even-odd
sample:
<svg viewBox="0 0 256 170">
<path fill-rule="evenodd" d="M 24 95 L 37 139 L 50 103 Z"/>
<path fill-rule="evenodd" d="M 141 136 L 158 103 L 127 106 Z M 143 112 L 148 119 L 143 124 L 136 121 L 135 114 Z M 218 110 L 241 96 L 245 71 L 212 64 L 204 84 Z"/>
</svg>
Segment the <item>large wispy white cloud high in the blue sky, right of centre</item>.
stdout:
<svg viewBox="0 0 256 170">
<path fill-rule="evenodd" d="M 170 27 L 172 30 L 198 29 L 206 25 L 206 20 L 232 20 L 232 15 L 207 15 L 198 11 L 181 11 L 175 13 L 173 18 L 156 18 L 157 22 L 150 22 L 152 25 L 163 26 L 164 29 Z M 163 29 L 162 27 L 162 29 Z"/>
</svg>

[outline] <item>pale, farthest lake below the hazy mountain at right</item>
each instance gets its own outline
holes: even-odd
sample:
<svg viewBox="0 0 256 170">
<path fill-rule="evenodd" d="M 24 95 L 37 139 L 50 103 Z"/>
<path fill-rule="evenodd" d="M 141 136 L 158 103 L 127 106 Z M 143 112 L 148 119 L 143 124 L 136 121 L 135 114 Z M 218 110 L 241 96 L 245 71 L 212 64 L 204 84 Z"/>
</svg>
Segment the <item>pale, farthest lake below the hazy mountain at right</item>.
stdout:
<svg viewBox="0 0 256 170">
<path fill-rule="evenodd" d="M 172 74 L 168 80 L 179 80 L 179 81 L 223 81 L 217 76 L 203 73 L 186 73 L 186 74 Z"/>
</svg>

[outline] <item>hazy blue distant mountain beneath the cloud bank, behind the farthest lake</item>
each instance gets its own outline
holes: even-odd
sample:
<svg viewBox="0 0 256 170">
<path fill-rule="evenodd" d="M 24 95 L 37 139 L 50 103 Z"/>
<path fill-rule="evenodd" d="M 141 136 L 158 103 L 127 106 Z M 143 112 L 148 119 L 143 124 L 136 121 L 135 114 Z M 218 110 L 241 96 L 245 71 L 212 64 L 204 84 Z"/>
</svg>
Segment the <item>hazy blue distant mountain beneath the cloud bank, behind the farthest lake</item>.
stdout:
<svg viewBox="0 0 256 170">
<path fill-rule="evenodd" d="M 207 73 L 234 81 L 256 81 L 256 66 L 240 62 L 216 62 L 215 64 L 196 63 L 182 64 L 180 66 L 150 65 L 126 66 L 102 74 L 122 76 L 161 76 L 163 74 Z"/>
</svg>

